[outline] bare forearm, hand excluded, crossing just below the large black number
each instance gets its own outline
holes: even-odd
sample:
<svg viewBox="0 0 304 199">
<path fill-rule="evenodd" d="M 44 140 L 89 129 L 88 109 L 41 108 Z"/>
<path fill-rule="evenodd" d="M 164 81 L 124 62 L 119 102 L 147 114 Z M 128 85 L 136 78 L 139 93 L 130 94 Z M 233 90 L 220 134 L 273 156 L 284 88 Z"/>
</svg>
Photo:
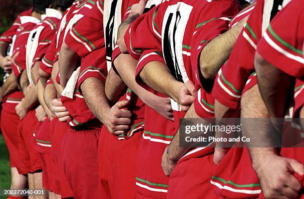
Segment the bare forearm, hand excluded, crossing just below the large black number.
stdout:
<svg viewBox="0 0 304 199">
<path fill-rule="evenodd" d="M 155 91 L 179 102 L 179 91 L 183 83 L 175 80 L 164 63 L 159 61 L 149 62 L 141 71 L 140 77 Z"/>
</svg>

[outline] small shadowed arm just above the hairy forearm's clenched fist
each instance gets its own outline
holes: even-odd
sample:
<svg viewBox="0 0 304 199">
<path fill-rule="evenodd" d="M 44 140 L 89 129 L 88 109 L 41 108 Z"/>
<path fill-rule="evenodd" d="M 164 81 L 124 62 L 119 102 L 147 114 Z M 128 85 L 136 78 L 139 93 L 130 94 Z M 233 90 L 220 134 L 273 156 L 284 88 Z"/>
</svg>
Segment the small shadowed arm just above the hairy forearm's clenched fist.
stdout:
<svg viewBox="0 0 304 199">
<path fill-rule="evenodd" d="M 105 94 L 111 102 L 116 102 L 122 91 L 126 88 L 123 80 L 111 69 L 105 82 Z"/>
</svg>

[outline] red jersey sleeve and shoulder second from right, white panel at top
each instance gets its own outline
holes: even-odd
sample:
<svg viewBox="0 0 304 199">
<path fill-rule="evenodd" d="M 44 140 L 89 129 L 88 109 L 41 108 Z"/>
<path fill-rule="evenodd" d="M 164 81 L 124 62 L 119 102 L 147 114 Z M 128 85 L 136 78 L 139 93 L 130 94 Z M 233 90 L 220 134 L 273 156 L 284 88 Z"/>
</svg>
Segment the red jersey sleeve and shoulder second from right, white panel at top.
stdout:
<svg viewBox="0 0 304 199">
<path fill-rule="evenodd" d="M 222 104 L 233 109 L 239 107 L 242 91 L 250 83 L 248 78 L 250 74 L 255 75 L 254 54 L 256 46 L 265 33 L 270 20 L 284 5 L 279 1 L 274 1 L 273 5 L 264 3 L 264 0 L 257 1 L 235 42 L 228 61 L 220 69 L 215 81 L 213 95 Z M 253 85 L 250 84 L 250 86 Z"/>
</svg>

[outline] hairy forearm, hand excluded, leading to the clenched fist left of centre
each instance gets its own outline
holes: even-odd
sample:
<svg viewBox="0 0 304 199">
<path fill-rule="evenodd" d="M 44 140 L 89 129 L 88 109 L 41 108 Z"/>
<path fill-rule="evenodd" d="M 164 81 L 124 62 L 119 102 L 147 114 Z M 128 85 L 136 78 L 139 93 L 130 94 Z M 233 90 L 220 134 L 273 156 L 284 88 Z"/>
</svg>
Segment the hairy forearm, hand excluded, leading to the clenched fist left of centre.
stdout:
<svg viewBox="0 0 304 199">
<path fill-rule="evenodd" d="M 105 95 L 105 84 L 98 78 L 87 78 L 80 86 L 82 95 L 97 119 L 103 124 L 109 124 L 107 113 L 111 106 Z"/>
</svg>

